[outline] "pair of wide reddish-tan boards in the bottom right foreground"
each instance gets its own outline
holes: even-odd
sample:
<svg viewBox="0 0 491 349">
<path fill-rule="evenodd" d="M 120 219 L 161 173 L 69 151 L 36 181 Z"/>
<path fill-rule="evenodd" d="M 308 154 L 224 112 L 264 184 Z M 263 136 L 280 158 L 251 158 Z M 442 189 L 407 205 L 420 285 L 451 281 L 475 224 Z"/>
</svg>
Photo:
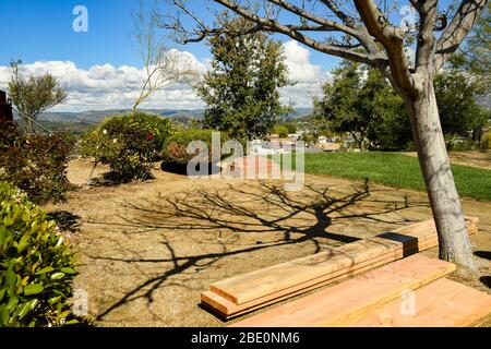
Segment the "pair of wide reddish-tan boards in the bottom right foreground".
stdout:
<svg viewBox="0 0 491 349">
<path fill-rule="evenodd" d="M 453 270 L 452 263 L 417 254 L 232 326 L 469 325 L 491 312 L 491 296 L 438 280 Z"/>
</svg>

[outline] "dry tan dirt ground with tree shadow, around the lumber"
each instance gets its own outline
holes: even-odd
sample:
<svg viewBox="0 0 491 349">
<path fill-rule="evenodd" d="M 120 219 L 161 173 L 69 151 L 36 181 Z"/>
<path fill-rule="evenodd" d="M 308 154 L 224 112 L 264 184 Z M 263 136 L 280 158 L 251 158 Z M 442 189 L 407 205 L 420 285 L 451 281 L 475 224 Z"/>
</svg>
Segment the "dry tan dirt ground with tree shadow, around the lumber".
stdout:
<svg viewBox="0 0 491 349">
<path fill-rule="evenodd" d="M 307 176 L 303 190 L 287 193 L 280 181 L 191 180 L 158 169 L 145 182 L 87 186 L 91 170 L 72 161 L 69 177 L 81 189 L 47 208 L 67 218 L 75 289 L 88 293 L 97 326 L 224 326 L 199 306 L 211 282 L 431 217 L 422 192 L 331 177 Z M 482 277 L 458 280 L 490 292 L 491 203 L 463 205 L 480 218 L 472 241 Z"/>
</svg>

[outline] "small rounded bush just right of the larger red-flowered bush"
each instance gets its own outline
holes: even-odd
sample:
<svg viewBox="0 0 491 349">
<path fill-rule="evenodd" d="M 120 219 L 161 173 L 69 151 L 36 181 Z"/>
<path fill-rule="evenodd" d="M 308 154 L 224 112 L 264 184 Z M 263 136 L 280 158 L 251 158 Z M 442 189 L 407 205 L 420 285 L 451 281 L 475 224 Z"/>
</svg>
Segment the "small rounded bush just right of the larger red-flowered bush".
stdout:
<svg viewBox="0 0 491 349">
<path fill-rule="evenodd" d="M 211 161 L 212 160 L 212 133 L 218 132 L 214 130 L 182 130 L 170 136 L 165 143 L 163 147 L 163 158 L 164 158 L 164 167 L 167 169 L 175 169 L 180 172 L 185 170 L 188 163 L 195 158 L 196 155 L 200 156 L 201 161 Z M 223 145 L 227 142 L 228 136 L 224 132 L 219 132 L 220 134 L 220 144 Z M 193 141 L 203 141 L 207 147 L 207 154 L 188 154 L 187 148 L 188 145 Z M 226 154 L 221 155 L 224 158 Z"/>
</svg>

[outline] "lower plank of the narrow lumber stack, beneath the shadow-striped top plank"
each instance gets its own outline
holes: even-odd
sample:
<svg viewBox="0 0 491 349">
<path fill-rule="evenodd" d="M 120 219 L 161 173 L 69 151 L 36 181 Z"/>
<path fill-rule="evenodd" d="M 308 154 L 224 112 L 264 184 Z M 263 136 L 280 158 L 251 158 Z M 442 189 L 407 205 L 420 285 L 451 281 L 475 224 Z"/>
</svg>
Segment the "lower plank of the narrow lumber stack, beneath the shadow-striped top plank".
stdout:
<svg viewBox="0 0 491 349">
<path fill-rule="evenodd" d="M 429 239 L 429 241 L 427 242 L 420 242 L 419 245 L 415 246 L 415 251 L 426 250 L 436 245 L 438 240 L 433 238 Z M 336 273 L 325 275 L 321 278 L 313 279 L 301 285 L 296 285 L 294 287 L 286 288 L 282 291 L 272 294 L 266 294 L 250 302 L 244 302 L 242 304 L 236 304 L 235 302 L 224 297 L 220 297 L 219 294 L 212 291 L 203 292 L 201 299 L 203 304 L 208 305 L 208 308 L 211 308 L 212 310 L 217 311 L 221 317 L 231 318 L 261 309 L 263 306 L 279 302 L 282 300 L 308 292 L 310 290 L 323 287 L 327 284 L 346 279 L 348 277 L 370 270 L 374 267 L 387 264 L 390 262 L 394 262 L 398 258 L 404 257 L 407 252 L 408 252 L 407 249 L 406 250 L 400 249 L 392 253 L 382 255 L 380 257 L 375 257 L 373 260 L 356 264 L 347 269 L 342 269 Z"/>
</svg>

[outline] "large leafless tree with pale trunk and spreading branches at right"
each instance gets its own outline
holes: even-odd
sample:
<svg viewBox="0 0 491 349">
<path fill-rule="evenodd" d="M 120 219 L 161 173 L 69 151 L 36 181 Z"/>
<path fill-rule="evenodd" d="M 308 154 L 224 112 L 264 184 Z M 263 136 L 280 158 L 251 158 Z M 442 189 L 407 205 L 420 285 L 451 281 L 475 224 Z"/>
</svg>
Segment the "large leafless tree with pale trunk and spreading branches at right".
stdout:
<svg viewBox="0 0 491 349">
<path fill-rule="evenodd" d="M 430 198 L 440 241 L 440 257 L 477 270 L 472 245 L 445 149 L 433 79 L 448 57 L 463 43 L 487 0 L 460 0 L 451 15 L 439 12 L 438 0 L 408 0 L 416 22 L 411 26 L 391 23 L 391 11 L 400 1 L 381 9 L 374 0 L 213 0 L 206 7 L 215 14 L 206 21 L 196 13 L 196 2 L 171 0 L 160 14 L 159 25 L 182 43 L 200 41 L 219 35 L 218 5 L 255 24 L 253 31 L 284 34 L 314 50 L 366 63 L 388 79 L 409 111 L 419 161 Z M 188 19 L 184 21 L 183 16 Z M 193 25 L 189 25 L 193 21 Z M 408 29 L 409 28 L 409 29 Z M 411 36 L 410 29 L 416 33 Z M 410 40 L 412 38 L 412 40 Z M 414 44 L 410 44 L 414 43 Z M 412 45 L 411 63 L 405 48 Z"/>
</svg>

